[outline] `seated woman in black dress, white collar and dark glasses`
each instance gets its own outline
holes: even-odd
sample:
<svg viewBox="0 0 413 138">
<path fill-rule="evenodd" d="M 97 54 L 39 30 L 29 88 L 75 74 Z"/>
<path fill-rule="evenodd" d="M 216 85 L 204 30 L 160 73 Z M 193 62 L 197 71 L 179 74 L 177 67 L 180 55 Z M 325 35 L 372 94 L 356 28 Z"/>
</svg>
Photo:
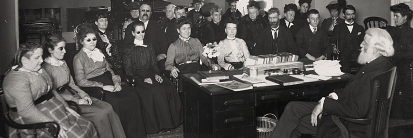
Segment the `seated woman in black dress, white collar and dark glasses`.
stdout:
<svg viewBox="0 0 413 138">
<path fill-rule="evenodd" d="M 126 46 L 123 63 L 126 74 L 137 80 L 135 90 L 141 98 L 146 133 L 175 128 L 183 121 L 181 99 L 172 82 L 159 73 L 155 50 L 144 40 L 144 23 L 131 25 L 134 44 Z"/>
</svg>

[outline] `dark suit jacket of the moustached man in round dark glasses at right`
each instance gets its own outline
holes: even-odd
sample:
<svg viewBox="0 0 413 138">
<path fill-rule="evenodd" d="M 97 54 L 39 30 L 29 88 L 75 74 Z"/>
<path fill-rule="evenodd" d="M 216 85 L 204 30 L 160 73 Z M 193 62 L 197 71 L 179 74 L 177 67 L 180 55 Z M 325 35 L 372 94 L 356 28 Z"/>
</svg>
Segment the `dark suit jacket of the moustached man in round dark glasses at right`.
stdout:
<svg viewBox="0 0 413 138">
<path fill-rule="evenodd" d="M 353 30 L 348 31 L 345 22 L 335 25 L 334 30 L 331 33 L 330 42 L 337 46 L 338 39 L 338 50 L 340 50 L 340 55 L 348 56 L 351 51 L 358 50 L 360 44 L 363 41 L 364 28 L 363 26 L 354 22 Z M 347 41 L 350 40 L 353 43 L 353 47 L 347 46 Z"/>
</svg>

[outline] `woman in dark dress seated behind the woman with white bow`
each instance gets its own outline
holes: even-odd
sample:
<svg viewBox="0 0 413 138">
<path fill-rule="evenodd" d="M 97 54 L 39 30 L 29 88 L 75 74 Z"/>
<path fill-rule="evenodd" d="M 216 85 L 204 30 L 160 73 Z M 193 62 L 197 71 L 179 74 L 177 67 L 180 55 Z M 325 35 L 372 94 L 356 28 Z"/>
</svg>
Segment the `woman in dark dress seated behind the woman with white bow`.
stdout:
<svg viewBox="0 0 413 138">
<path fill-rule="evenodd" d="M 113 31 L 108 31 L 108 15 L 106 13 L 98 13 L 95 16 L 95 25 L 98 28 L 98 42 L 96 48 L 102 51 L 106 61 L 112 65 L 112 70 L 115 75 L 122 76 L 123 64 L 120 51 L 116 45 Z"/>
</svg>

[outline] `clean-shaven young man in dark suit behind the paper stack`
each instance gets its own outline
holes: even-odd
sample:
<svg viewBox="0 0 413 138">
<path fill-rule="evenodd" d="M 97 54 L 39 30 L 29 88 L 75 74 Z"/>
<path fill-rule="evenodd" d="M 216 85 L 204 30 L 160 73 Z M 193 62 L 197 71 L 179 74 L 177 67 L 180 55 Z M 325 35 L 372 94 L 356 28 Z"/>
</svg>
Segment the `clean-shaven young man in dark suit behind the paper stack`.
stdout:
<svg viewBox="0 0 413 138">
<path fill-rule="evenodd" d="M 302 27 L 296 35 L 296 43 L 300 58 L 319 61 L 330 57 L 333 48 L 327 32 L 318 28 L 320 14 L 312 9 L 307 12 L 309 25 Z"/>
</svg>

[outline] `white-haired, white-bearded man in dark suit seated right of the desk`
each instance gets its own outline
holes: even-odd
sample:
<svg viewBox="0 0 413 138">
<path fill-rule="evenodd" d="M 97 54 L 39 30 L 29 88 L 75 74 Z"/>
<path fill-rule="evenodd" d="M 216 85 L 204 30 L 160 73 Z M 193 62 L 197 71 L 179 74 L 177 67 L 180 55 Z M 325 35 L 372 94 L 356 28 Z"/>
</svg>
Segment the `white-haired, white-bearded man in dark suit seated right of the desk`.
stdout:
<svg viewBox="0 0 413 138">
<path fill-rule="evenodd" d="M 332 115 L 349 118 L 365 117 L 369 111 L 370 79 L 392 68 L 387 58 L 394 54 L 390 34 L 379 28 L 366 31 L 358 62 L 364 66 L 349 80 L 344 89 L 330 93 L 318 102 L 290 102 L 270 138 L 300 138 L 301 134 L 317 138 L 339 138 L 341 132 Z M 351 134 L 363 138 L 366 125 L 343 121 Z"/>
</svg>

